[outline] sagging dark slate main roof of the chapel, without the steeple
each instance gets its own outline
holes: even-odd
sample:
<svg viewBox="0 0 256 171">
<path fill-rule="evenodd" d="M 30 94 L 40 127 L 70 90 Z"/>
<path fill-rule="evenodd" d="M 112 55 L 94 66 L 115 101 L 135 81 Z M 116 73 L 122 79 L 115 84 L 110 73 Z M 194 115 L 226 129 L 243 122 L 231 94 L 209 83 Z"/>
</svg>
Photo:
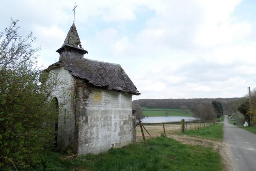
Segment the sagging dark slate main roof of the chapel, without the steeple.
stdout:
<svg viewBox="0 0 256 171">
<path fill-rule="evenodd" d="M 48 69 L 62 66 L 75 78 L 97 87 L 113 91 L 140 95 L 132 80 L 126 75 L 121 65 L 84 58 L 84 61 L 63 59 L 52 64 Z"/>
</svg>

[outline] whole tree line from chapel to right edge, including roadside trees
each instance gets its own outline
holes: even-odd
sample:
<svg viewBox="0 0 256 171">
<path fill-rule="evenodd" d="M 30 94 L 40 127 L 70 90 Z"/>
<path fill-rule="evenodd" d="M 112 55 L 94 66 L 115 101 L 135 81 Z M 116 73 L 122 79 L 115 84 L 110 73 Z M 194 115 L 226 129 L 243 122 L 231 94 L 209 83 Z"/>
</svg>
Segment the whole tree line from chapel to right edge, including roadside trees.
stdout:
<svg viewBox="0 0 256 171">
<path fill-rule="evenodd" d="M 144 117 L 140 106 L 192 111 L 200 120 L 214 120 L 226 115 L 242 114 L 249 126 L 256 125 L 256 89 L 241 98 L 139 99 L 133 101 L 138 117 Z"/>
</svg>

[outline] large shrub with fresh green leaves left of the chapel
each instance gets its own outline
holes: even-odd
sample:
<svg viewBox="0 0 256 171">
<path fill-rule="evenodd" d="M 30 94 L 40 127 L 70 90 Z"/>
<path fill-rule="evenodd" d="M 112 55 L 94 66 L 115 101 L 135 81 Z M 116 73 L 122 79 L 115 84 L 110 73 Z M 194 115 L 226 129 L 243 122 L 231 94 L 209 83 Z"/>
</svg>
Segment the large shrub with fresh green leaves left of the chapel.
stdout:
<svg viewBox="0 0 256 171">
<path fill-rule="evenodd" d="M 18 20 L 0 33 L 0 169 L 30 168 L 42 160 L 58 115 L 39 82 L 33 33 L 19 35 Z M 48 92 L 48 93 L 45 93 Z"/>
</svg>

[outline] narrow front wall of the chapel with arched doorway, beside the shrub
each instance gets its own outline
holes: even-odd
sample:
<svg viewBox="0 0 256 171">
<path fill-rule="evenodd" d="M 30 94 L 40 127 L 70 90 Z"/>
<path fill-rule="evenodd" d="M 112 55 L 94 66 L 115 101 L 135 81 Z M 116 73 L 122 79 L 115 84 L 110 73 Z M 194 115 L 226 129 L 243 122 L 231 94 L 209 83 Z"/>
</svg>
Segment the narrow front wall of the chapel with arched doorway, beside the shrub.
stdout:
<svg viewBox="0 0 256 171">
<path fill-rule="evenodd" d="M 76 102 L 72 95 L 76 93 L 75 80 L 69 71 L 63 67 L 57 67 L 51 71 L 56 76 L 58 84 L 54 88 L 52 97 L 58 99 L 59 104 L 59 122 L 58 122 L 58 142 L 59 149 L 74 148 L 74 131 L 75 131 L 75 106 Z"/>
</svg>

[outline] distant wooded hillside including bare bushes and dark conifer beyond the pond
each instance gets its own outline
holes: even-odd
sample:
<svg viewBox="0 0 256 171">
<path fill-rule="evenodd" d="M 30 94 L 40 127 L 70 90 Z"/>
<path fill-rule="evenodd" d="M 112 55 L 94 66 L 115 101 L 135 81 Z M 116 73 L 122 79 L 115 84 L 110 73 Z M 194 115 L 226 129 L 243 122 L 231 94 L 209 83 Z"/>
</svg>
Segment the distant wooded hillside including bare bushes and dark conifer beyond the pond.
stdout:
<svg viewBox="0 0 256 171">
<path fill-rule="evenodd" d="M 148 108 L 181 109 L 191 111 L 195 118 L 200 120 L 215 120 L 224 114 L 237 114 L 238 107 L 243 104 L 243 98 L 192 98 L 192 99 L 139 99 L 134 100 L 139 117 L 143 117 L 143 111 L 139 106 Z M 135 109 L 135 105 L 134 109 Z"/>
</svg>

